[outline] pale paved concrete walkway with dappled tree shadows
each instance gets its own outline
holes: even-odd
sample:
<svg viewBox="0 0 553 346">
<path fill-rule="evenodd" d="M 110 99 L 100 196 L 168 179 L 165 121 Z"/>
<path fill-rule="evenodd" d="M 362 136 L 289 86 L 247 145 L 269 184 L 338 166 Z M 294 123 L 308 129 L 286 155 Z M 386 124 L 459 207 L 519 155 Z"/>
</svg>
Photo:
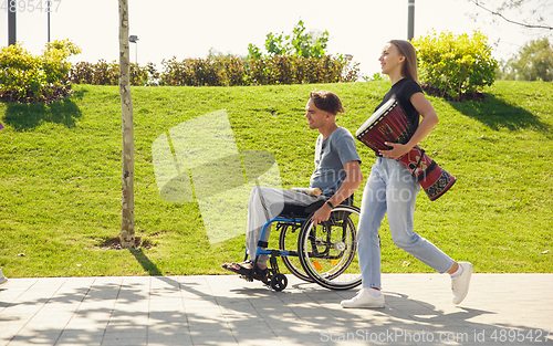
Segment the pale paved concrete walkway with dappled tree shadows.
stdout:
<svg viewBox="0 0 553 346">
<path fill-rule="evenodd" d="M 10 279 L 0 345 L 552 345 L 553 274 L 384 274 L 386 307 L 289 276 L 274 292 L 238 276 Z"/>
</svg>

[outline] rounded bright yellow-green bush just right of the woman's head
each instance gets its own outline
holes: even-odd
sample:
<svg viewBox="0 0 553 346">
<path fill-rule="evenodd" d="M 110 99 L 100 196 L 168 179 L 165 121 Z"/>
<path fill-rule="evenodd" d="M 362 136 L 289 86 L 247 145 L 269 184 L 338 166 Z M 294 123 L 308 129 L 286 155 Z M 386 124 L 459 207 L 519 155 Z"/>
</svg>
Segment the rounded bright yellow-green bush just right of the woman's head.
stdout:
<svg viewBox="0 0 553 346">
<path fill-rule="evenodd" d="M 414 40 L 413 45 L 420 82 L 450 97 L 459 99 L 495 81 L 498 62 L 491 55 L 488 38 L 477 30 L 472 36 L 434 32 Z"/>
</svg>

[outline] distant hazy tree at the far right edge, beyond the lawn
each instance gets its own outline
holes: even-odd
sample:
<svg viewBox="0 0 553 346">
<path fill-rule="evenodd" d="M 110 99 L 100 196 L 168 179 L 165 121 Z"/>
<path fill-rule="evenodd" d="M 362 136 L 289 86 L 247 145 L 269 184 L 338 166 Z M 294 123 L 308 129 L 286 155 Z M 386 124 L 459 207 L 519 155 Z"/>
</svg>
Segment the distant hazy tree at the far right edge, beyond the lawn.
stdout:
<svg viewBox="0 0 553 346">
<path fill-rule="evenodd" d="M 547 38 L 532 40 L 505 64 L 502 78 L 553 81 L 553 43 Z"/>
</svg>

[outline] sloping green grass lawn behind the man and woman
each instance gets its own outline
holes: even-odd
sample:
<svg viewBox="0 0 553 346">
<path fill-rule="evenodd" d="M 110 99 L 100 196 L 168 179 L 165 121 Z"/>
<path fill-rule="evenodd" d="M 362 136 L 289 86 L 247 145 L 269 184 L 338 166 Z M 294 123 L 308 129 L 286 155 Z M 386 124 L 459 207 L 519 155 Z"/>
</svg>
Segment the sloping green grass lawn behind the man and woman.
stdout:
<svg viewBox="0 0 553 346">
<path fill-rule="evenodd" d="M 249 87 L 134 87 L 136 235 L 153 244 L 107 250 L 121 224 L 118 87 L 74 86 L 50 105 L 0 103 L 0 266 L 7 276 L 226 273 L 244 235 L 211 243 L 196 202 L 158 192 L 152 145 L 174 126 L 227 109 L 239 150 L 274 154 L 283 188 L 307 186 L 317 132 L 309 92 L 343 99 L 355 133 L 389 82 Z M 429 97 L 440 123 L 420 144 L 458 179 L 435 202 L 421 191 L 416 231 L 477 272 L 553 271 L 553 84 L 497 82 L 486 102 Z M 375 161 L 358 143 L 363 172 Z M 361 203 L 362 189 L 356 193 Z M 275 233 L 275 232 L 274 232 Z M 432 272 L 380 230 L 384 272 Z M 546 252 L 549 250 L 549 252 Z"/>
</svg>

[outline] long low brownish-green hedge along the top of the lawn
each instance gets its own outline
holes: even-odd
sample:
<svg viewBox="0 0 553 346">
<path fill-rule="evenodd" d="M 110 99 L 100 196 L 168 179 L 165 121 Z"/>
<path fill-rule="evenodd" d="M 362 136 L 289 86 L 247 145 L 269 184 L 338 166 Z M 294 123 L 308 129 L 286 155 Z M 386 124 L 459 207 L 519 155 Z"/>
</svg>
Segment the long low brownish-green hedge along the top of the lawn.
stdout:
<svg viewBox="0 0 553 346">
<path fill-rule="evenodd" d="M 161 62 L 158 72 L 153 63 L 146 66 L 131 64 L 132 85 L 189 85 L 234 86 L 275 85 L 302 83 L 353 82 L 359 77 L 358 63 L 341 56 L 322 59 L 275 55 L 243 60 L 238 56 L 221 59 L 176 57 Z M 116 85 L 118 64 L 98 61 L 96 64 L 80 62 L 69 74 L 71 83 Z"/>
</svg>

